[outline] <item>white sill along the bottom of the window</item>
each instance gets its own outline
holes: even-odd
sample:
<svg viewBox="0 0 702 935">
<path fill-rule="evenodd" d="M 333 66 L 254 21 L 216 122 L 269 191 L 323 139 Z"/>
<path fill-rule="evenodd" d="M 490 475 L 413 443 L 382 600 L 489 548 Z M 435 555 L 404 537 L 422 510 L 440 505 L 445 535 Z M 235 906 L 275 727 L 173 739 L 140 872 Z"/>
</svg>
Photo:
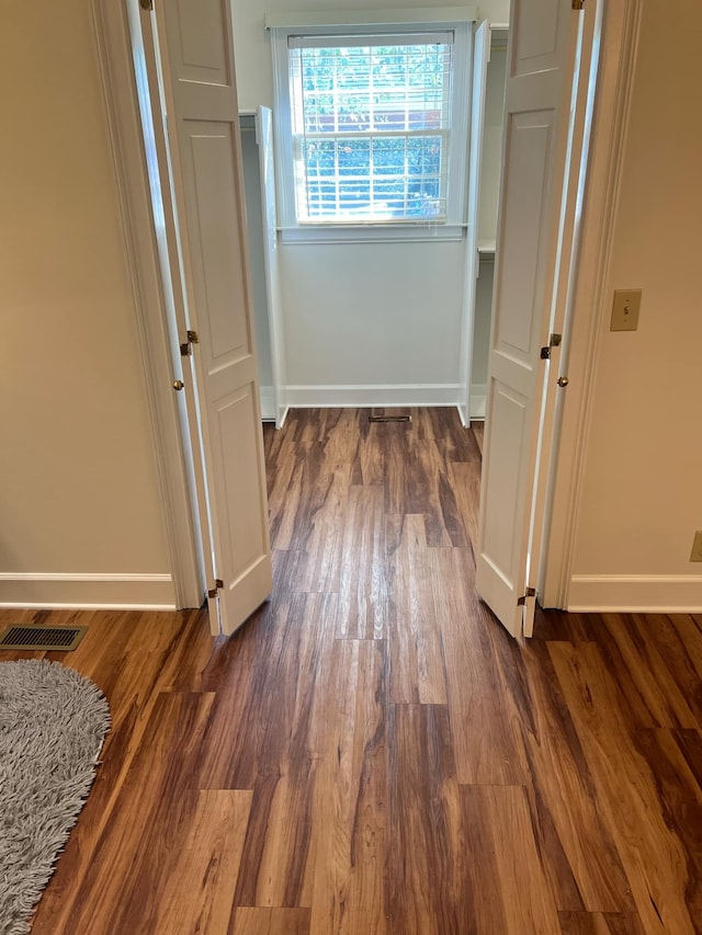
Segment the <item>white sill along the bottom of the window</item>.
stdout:
<svg viewBox="0 0 702 935">
<path fill-rule="evenodd" d="M 462 240 L 462 224 L 329 224 L 279 228 L 283 243 L 398 243 Z"/>
</svg>

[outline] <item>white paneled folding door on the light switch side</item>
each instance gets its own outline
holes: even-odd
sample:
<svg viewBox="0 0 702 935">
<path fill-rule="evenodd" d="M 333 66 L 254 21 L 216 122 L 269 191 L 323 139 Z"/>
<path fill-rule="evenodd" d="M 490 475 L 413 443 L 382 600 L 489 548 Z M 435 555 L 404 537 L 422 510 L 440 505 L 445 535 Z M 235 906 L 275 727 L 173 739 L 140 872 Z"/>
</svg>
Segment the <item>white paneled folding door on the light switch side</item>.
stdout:
<svg viewBox="0 0 702 935">
<path fill-rule="evenodd" d="M 514 0 L 507 65 L 487 421 L 476 584 L 513 635 L 533 614 L 531 561 L 544 440 L 548 344 L 563 270 L 582 11 L 571 0 Z M 529 622 L 526 620 L 529 634 Z"/>
</svg>

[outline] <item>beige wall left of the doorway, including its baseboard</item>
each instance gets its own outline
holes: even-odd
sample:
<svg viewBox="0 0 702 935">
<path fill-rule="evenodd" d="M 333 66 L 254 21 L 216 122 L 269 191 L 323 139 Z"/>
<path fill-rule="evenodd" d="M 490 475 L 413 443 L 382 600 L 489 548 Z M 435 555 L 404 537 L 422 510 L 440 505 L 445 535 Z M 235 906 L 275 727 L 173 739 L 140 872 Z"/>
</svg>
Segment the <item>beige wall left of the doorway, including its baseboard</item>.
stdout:
<svg viewBox="0 0 702 935">
<path fill-rule="evenodd" d="M 4 3 L 1 32 L 0 602 L 168 603 L 90 3 Z M 72 586 L 103 573 L 147 580 Z"/>
</svg>

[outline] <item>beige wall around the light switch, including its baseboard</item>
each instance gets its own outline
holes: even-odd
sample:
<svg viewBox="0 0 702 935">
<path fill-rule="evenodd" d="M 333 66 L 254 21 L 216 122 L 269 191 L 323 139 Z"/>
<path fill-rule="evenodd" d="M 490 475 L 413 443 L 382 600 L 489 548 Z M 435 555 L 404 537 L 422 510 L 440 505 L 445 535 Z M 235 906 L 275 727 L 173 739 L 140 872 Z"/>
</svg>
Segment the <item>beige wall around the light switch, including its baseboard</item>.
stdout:
<svg viewBox="0 0 702 935">
<path fill-rule="evenodd" d="M 700 4 L 644 3 L 571 606 L 702 607 L 700 36 Z M 643 289 L 635 333 L 609 331 L 615 288 Z"/>
</svg>

